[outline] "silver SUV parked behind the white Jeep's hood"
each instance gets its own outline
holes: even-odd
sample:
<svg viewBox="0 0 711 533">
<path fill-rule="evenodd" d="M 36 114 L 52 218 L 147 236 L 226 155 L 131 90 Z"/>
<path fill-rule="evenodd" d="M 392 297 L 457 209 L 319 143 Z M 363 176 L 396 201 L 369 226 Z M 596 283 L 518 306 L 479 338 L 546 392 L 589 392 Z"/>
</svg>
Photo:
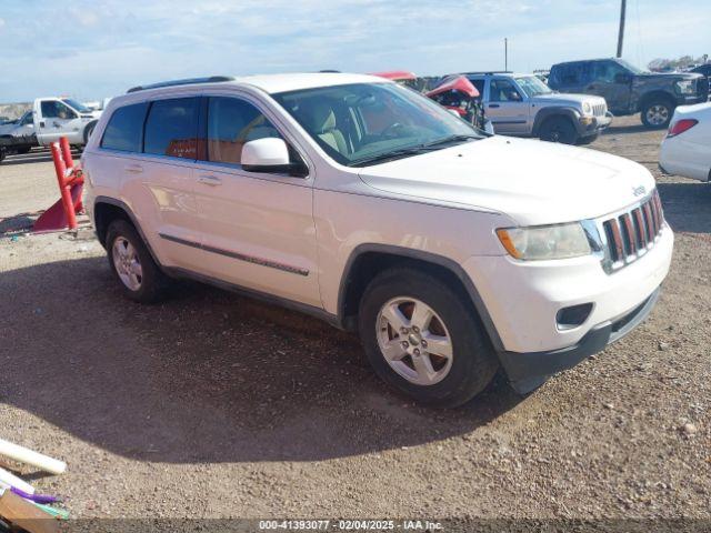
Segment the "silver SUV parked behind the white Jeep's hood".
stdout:
<svg viewBox="0 0 711 533">
<path fill-rule="evenodd" d="M 603 98 L 554 92 L 534 74 L 469 72 L 463 76 L 483 95 L 484 113 L 502 135 L 587 144 L 612 122 Z"/>
</svg>

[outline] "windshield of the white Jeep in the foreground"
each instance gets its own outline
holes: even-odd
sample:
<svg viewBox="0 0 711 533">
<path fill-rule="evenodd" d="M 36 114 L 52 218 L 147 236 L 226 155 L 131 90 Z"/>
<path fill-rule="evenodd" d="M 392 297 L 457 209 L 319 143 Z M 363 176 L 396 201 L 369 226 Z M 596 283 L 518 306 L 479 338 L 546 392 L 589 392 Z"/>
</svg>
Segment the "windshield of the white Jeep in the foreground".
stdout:
<svg viewBox="0 0 711 533">
<path fill-rule="evenodd" d="M 282 92 L 273 98 L 341 164 L 414 155 L 485 133 L 395 83 L 353 83 Z"/>
</svg>

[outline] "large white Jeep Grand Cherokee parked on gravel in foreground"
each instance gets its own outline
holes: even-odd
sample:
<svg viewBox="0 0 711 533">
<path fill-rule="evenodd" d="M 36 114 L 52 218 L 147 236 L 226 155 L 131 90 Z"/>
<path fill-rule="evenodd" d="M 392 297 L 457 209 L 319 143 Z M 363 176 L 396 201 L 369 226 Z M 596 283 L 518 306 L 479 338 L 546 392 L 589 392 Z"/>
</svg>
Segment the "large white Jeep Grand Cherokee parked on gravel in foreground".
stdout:
<svg viewBox="0 0 711 533">
<path fill-rule="evenodd" d="M 360 333 L 375 372 L 458 405 L 528 392 L 651 311 L 672 255 L 631 161 L 489 137 L 341 73 L 182 80 L 116 98 L 83 157 L 126 294 L 190 276 Z"/>
</svg>

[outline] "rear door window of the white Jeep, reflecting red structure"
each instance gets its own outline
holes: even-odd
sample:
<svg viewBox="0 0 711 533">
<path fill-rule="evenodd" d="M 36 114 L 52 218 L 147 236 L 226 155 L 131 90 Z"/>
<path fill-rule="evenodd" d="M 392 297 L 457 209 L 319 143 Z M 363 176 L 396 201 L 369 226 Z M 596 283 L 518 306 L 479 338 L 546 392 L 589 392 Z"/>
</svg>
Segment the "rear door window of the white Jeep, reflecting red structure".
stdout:
<svg viewBox="0 0 711 533">
<path fill-rule="evenodd" d="M 154 155 L 197 159 L 198 98 L 157 100 L 146 120 L 143 151 Z"/>
</svg>

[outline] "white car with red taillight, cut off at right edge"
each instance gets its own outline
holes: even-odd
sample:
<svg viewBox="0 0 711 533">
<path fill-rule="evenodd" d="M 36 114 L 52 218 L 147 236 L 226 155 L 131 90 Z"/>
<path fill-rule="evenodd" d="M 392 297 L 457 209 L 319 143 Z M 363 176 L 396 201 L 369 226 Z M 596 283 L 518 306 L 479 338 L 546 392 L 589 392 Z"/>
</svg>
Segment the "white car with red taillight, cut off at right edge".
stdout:
<svg viewBox="0 0 711 533">
<path fill-rule="evenodd" d="M 668 174 L 711 181 L 711 102 L 674 110 L 659 165 Z"/>
</svg>

